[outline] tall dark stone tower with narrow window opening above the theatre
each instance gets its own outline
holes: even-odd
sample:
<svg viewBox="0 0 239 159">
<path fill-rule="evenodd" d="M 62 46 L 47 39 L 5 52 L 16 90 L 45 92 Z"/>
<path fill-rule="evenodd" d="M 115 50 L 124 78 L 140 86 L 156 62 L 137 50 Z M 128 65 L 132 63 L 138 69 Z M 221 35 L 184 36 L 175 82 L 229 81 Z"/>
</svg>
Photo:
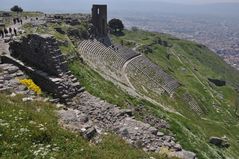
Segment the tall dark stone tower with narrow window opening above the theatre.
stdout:
<svg viewBox="0 0 239 159">
<path fill-rule="evenodd" d="M 107 5 L 93 5 L 92 24 L 96 36 L 107 36 Z"/>
</svg>

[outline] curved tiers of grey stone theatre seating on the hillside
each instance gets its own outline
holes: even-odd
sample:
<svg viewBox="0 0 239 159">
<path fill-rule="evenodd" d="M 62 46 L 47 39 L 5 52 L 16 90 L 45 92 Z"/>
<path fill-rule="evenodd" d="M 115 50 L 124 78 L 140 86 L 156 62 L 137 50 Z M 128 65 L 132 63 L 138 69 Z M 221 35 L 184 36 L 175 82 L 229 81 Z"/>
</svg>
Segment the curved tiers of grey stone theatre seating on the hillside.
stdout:
<svg viewBox="0 0 239 159">
<path fill-rule="evenodd" d="M 119 44 L 106 46 L 95 39 L 84 40 L 79 52 L 91 66 L 125 84 L 126 73 L 133 85 L 143 85 L 158 94 L 171 95 L 180 85 L 147 57 Z"/>
</svg>

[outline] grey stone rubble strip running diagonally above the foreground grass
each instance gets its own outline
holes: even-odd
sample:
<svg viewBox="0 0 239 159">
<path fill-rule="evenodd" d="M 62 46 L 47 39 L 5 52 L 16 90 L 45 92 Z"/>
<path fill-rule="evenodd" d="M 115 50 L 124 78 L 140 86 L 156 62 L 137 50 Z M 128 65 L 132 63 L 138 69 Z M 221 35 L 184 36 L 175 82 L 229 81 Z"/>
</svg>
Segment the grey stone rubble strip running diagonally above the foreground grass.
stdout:
<svg viewBox="0 0 239 159">
<path fill-rule="evenodd" d="M 167 147 L 173 156 L 185 159 L 196 157 L 194 153 L 183 150 L 174 137 L 150 124 L 135 120 L 128 109 L 119 109 L 87 92 L 76 96 L 74 101 L 74 109 L 59 111 L 61 124 L 80 132 L 88 140 L 105 132 L 114 132 L 129 144 L 147 152 L 160 152 L 162 147 Z"/>
</svg>

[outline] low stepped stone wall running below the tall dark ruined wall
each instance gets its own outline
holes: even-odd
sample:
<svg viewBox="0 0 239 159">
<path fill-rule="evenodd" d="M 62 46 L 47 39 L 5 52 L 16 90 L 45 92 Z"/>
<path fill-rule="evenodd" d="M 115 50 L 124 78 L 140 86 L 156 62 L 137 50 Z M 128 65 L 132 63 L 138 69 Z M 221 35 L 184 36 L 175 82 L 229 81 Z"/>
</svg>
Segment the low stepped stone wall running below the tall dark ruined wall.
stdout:
<svg viewBox="0 0 239 159">
<path fill-rule="evenodd" d="M 57 101 L 71 105 L 71 98 L 84 91 L 84 88 L 81 87 L 80 83 L 70 72 L 63 74 L 60 78 L 52 77 L 41 70 L 25 66 L 20 61 L 8 56 L 2 56 L 1 61 L 19 67 L 20 70 L 24 71 L 44 92 L 52 94 Z"/>
</svg>

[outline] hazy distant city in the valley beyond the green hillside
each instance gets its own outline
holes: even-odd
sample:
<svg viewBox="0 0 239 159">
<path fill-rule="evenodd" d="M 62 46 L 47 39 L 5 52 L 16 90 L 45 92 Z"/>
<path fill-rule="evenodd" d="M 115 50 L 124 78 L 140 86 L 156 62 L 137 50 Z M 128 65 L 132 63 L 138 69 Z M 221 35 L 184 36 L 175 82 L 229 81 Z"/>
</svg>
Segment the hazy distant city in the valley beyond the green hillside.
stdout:
<svg viewBox="0 0 239 159">
<path fill-rule="evenodd" d="M 121 18 L 127 28 L 137 26 L 204 44 L 239 70 L 239 17 L 158 14 Z"/>
</svg>

